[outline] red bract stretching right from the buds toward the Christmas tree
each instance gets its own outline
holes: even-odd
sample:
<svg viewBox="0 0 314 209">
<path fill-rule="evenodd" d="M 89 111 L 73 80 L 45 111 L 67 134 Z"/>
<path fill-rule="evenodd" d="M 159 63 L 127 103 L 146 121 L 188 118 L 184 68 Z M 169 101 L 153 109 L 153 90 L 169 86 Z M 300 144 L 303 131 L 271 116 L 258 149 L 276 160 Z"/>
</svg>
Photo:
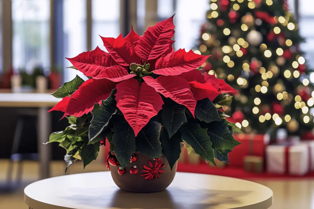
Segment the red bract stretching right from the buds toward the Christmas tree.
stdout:
<svg viewBox="0 0 314 209">
<path fill-rule="evenodd" d="M 154 73 L 164 76 L 180 75 L 198 68 L 208 57 L 195 54 L 192 50 L 186 52 L 184 49 L 179 49 L 157 60 Z"/>
</svg>

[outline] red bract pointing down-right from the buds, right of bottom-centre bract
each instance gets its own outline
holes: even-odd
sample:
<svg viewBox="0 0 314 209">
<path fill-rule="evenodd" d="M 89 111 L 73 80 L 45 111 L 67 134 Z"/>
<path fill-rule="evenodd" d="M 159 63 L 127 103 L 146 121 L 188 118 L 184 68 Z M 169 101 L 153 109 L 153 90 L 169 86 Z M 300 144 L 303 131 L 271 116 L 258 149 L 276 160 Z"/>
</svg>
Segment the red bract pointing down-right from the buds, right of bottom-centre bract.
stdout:
<svg viewBox="0 0 314 209">
<path fill-rule="evenodd" d="M 176 103 L 186 106 L 194 116 L 196 101 L 190 90 L 191 87 L 184 78 L 180 76 L 159 76 L 154 79 L 145 76 L 143 79 L 149 86 L 165 97 L 169 97 Z"/>
</svg>

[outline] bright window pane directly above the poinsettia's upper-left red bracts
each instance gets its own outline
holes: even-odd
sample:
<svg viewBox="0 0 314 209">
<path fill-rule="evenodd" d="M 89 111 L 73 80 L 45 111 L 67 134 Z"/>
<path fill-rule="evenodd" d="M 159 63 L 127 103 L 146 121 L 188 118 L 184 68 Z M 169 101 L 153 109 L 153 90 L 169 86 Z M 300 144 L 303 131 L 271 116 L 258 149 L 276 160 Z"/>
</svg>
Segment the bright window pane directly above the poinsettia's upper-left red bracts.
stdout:
<svg viewBox="0 0 314 209">
<path fill-rule="evenodd" d="M 99 37 L 114 37 L 120 34 L 119 27 L 120 1 L 92 0 L 92 48 L 99 46 L 105 50 Z"/>
</svg>

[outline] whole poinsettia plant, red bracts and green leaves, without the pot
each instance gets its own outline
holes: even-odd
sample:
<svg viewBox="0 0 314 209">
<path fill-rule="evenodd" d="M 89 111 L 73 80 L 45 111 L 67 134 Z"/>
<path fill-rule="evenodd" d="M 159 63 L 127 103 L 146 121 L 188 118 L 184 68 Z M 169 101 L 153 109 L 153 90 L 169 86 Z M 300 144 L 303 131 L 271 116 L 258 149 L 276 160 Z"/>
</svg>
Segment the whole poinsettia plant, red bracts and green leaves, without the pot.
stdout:
<svg viewBox="0 0 314 209">
<path fill-rule="evenodd" d="M 62 98 L 50 111 L 63 111 L 69 123 L 52 133 L 49 142 L 67 150 L 67 166 L 82 159 L 84 167 L 96 159 L 107 138 L 122 168 L 131 155 L 152 158 L 164 154 L 172 166 L 183 140 L 204 160 L 228 162 L 237 145 L 237 127 L 218 111 L 230 106 L 236 90 L 199 67 L 208 56 L 192 50 L 174 51 L 173 16 L 149 27 L 143 36 L 133 29 L 123 38 L 101 37 L 109 53 L 99 47 L 67 58 L 76 76 L 53 96 Z"/>
</svg>

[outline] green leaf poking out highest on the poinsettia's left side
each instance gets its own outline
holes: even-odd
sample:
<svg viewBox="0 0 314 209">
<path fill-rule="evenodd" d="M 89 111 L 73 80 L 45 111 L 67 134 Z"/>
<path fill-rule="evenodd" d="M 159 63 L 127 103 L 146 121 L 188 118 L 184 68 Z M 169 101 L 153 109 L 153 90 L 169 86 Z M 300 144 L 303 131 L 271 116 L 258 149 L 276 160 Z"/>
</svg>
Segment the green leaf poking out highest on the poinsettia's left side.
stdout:
<svg viewBox="0 0 314 209">
<path fill-rule="evenodd" d="M 68 95 L 71 95 L 74 93 L 74 91 L 78 90 L 78 87 L 84 83 L 84 80 L 80 78 L 78 75 L 69 82 L 66 82 L 61 86 L 60 88 L 55 91 L 52 96 L 57 97 L 57 98 L 63 98 L 67 97 Z"/>
</svg>

